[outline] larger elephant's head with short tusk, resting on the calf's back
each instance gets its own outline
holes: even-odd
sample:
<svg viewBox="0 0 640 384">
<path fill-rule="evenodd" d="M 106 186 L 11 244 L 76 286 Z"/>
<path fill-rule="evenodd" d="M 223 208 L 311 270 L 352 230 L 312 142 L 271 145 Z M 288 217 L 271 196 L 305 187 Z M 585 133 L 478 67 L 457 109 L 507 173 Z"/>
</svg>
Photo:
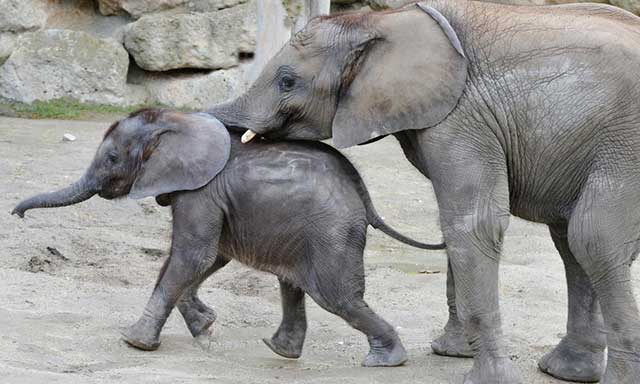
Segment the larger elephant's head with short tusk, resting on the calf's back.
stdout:
<svg viewBox="0 0 640 384">
<path fill-rule="evenodd" d="M 244 95 L 211 113 L 251 129 L 244 141 L 253 133 L 333 137 L 344 148 L 438 124 L 457 105 L 466 73 L 456 32 L 431 7 L 319 17 Z"/>
</svg>

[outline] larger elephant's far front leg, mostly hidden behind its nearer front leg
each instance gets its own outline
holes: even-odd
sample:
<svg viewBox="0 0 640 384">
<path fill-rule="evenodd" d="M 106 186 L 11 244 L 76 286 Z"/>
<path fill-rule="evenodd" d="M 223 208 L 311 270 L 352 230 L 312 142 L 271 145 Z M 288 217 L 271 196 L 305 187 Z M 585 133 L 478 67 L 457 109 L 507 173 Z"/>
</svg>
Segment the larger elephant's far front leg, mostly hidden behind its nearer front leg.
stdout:
<svg viewBox="0 0 640 384">
<path fill-rule="evenodd" d="M 464 336 L 462 322 L 458 318 L 456 308 L 456 291 L 451 263 L 447 263 L 447 305 L 449 320 L 444 327 L 444 334 L 431 343 L 431 349 L 437 355 L 451 357 L 473 357 L 471 346 Z"/>
</svg>

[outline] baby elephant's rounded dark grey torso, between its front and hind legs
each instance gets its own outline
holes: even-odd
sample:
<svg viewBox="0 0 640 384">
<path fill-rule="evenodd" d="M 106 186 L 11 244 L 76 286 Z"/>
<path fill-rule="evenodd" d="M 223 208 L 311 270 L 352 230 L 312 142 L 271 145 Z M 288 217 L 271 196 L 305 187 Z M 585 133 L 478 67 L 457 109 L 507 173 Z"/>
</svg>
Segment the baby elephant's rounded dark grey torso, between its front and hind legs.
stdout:
<svg viewBox="0 0 640 384">
<path fill-rule="evenodd" d="M 227 216 L 223 247 L 235 253 L 229 257 L 278 273 L 279 265 L 291 265 L 291 258 L 308 249 L 364 241 L 360 177 L 325 144 L 242 145 L 232 137 L 221 176 Z"/>
</svg>

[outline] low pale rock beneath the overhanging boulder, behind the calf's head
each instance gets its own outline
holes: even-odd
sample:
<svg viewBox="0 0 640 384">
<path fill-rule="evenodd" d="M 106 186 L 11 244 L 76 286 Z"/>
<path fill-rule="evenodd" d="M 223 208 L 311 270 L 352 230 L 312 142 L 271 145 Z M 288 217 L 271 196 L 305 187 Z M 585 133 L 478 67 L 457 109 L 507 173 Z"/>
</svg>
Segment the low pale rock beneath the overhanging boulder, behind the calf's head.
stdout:
<svg viewBox="0 0 640 384">
<path fill-rule="evenodd" d="M 178 76 L 147 75 L 142 84 L 148 101 L 175 108 L 204 109 L 238 96 L 244 90 L 240 68 Z"/>
</svg>

